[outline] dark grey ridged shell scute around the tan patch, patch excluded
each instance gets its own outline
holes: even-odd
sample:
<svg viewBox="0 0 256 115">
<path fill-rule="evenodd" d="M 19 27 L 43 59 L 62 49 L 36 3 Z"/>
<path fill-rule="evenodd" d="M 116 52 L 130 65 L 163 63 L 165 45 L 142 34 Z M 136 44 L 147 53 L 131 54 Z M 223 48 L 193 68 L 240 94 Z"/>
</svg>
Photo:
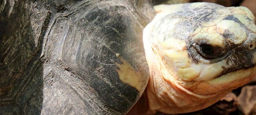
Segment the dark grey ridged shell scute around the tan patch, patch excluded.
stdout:
<svg viewBox="0 0 256 115">
<path fill-rule="evenodd" d="M 77 24 L 75 26 L 84 31 L 79 33 L 73 25 L 69 27 L 62 58 L 95 92 L 95 97 L 88 98 L 100 102 L 111 114 L 125 114 L 134 105 L 140 92 L 120 80 L 116 71 L 119 68 L 115 63 L 123 62 L 115 54 L 120 53 L 120 57 L 136 69 L 133 64 L 135 60 L 132 60 L 135 58 L 131 57 L 136 53 L 127 52 L 127 49 L 132 49 L 127 45 L 143 46 L 131 31 L 133 28 L 130 22 L 133 19 L 117 11 L 129 12 L 124 6 L 108 6 L 81 12 L 80 17 L 71 16 L 74 18 L 72 21 Z M 81 37 L 76 39 L 78 42 L 73 41 L 74 34 L 80 34 Z M 134 52 L 140 52 L 139 50 L 138 47 Z M 72 55 L 75 55 L 75 60 Z"/>
</svg>

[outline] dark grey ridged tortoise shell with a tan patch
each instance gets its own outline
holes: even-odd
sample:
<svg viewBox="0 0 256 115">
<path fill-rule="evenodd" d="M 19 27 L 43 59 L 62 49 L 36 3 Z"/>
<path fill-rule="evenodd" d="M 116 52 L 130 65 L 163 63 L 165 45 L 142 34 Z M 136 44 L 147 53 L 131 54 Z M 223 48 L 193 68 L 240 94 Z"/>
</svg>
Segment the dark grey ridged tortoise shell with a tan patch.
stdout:
<svg viewBox="0 0 256 115">
<path fill-rule="evenodd" d="M 138 101 L 151 2 L 4 2 L 0 114 L 125 114 Z"/>
</svg>

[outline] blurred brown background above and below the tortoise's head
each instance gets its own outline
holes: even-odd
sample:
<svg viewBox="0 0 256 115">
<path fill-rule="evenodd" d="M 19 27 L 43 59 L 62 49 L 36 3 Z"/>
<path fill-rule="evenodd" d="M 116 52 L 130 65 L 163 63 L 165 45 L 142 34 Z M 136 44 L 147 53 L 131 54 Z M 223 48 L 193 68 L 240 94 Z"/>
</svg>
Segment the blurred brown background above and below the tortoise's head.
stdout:
<svg viewBox="0 0 256 115">
<path fill-rule="evenodd" d="M 155 0 L 154 4 L 211 2 L 226 7 L 244 6 L 256 16 L 256 0 Z M 166 115 L 158 112 L 156 115 Z M 179 115 L 256 115 L 256 78 L 247 85 L 233 90 L 214 105 L 192 113 Z"/>
</svg>

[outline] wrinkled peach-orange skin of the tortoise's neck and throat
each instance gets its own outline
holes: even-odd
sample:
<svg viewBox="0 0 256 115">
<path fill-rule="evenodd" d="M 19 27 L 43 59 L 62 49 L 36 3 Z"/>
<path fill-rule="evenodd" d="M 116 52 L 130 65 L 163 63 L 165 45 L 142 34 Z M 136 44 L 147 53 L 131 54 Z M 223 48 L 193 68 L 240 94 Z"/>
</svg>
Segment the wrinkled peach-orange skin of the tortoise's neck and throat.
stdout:
<svg viewBox="0 0 256 115">
<path fill-rule="evenodd" d="M 170 67 L 165 64 L 165 57 L 151 46 L 147 37 L 145 38 L 144 48 L 150 69 L 147 86 L 149 114 L 157 110 L 176 114 L 204 109 L 230 93 L 232 89 L 246 84 L 253 78 L 252 75 L 219 85 L 211 85 L 205 81 L 182 81 L 175 76 L 175 72 L 168 69 Z"/>
</svg>

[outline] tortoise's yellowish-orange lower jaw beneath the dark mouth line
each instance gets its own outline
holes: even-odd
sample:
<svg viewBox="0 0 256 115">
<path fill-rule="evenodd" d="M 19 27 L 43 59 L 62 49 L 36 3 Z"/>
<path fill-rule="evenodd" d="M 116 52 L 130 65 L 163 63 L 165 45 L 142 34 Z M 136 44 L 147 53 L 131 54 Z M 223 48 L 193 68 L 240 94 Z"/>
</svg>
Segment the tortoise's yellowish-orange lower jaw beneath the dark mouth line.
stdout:
<svg viewBox="0 0 256 115">
<path fill-rule="evenodd" d="M 256 66 L 227 73 L 218 78 L 203 81 L 176 81 L 182 91 L 198 98 L 210 98 L 241 87 L 256 76 Z"/>
</svg>

